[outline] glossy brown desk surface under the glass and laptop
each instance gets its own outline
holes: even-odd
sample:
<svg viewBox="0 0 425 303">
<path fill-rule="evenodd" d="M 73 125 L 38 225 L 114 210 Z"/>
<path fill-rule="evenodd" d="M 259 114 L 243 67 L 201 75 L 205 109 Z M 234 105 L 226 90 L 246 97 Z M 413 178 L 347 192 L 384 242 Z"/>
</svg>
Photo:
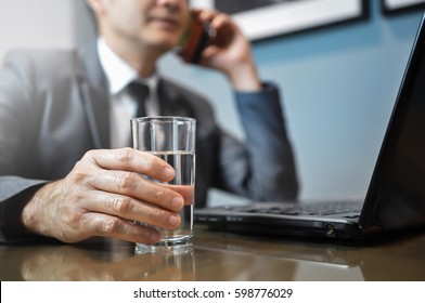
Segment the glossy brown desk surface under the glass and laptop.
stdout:
<svg viewBox="0 0 425 303">
<path fill-rule="evenodd" d="M 0 280 L 425 280 L 425 234 L 361 247 L 198 227 L 194 248 L 175 255 L 111 239 L 0 246 Z"/>
</svg>

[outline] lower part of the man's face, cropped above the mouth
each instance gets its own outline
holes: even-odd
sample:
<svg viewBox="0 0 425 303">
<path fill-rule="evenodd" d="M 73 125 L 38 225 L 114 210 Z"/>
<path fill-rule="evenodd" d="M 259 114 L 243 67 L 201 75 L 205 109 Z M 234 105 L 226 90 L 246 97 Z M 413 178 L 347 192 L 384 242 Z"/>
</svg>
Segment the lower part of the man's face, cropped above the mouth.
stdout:
<svg viewBox="0 0 425 303">
<path fill-rule="evenodd" d="M 100 0 L 101 34 L 126 47 L 168 51 L 189 17 L 188 0 Z"/>
</svg>

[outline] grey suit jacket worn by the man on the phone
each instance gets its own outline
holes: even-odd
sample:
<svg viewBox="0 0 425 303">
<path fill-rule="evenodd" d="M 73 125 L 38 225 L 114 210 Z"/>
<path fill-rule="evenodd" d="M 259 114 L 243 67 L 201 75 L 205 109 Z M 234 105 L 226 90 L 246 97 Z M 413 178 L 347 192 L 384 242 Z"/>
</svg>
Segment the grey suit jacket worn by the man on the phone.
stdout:
<svg viewBox="0 0 425 303">
<path fill-rule="evenodd" d="M 194 117 L 196 207 L 217 187 L 255 200 L 294 198 L 298 183 L 279 91 L 235 93 L 246 143 L 223 132 L 201 95 L 162 79 L 162 115 Z M 64 177 L 83 154 L 108 148 L 107 81 L 94 44 L 82 51 L 15 51 L 0 74 L 0 241 L 25 236 L 25 196 Z"/>
</svg>

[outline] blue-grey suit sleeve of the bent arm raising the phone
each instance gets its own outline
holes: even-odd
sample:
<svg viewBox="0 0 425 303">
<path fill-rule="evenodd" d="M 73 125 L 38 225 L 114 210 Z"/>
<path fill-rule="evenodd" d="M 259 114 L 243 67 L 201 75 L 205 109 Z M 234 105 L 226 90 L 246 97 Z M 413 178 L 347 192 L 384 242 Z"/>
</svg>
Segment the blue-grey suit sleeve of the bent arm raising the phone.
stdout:
<svg viewBox="0 0 425 303">
<path fill-rule="evenodd" d="M 219 187 L 254 200 L 294 199 L 298 194 L 293 148 L 278 88 L 235 92 L 245 142 L 221 137 Z"/>
</svg>

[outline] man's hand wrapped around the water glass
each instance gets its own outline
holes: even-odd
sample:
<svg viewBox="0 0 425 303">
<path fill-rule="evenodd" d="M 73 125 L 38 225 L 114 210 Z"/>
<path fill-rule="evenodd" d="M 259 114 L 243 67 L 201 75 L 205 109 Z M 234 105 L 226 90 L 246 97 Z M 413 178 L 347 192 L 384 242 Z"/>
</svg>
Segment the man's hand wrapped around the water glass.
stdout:
<svg viewBox="0 0 425 303">
<path fill-rule="evenodd" d="M 144 179 L 167 182 L 173 169 L 151 154 L 132 148 L 88 152 L 63 180 L 41 187 L 24 208 L 22 220 L 33 233 L 64 242 L 93 236 L 155 243 L 155 228 L 180 224 L 183 198 Z"/>
</svg>

